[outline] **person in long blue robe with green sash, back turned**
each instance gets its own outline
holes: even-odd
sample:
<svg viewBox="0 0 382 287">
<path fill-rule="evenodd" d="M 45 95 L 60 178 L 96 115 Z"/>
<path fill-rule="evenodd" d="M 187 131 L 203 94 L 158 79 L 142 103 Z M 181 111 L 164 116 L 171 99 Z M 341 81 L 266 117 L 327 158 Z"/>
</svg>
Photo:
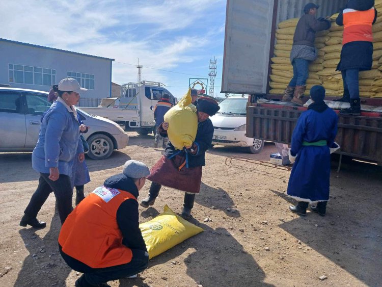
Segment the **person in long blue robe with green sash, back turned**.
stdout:
<svg viewBox="0 0 382 287">
<path fill-rule="evenodd" d="M 313 103 L 298 118 L 292 135 L 289 159 L 295 163 L 287 194 L 298 201 L 289 206 L 291 212 L 306 215 L 311 203 L 311 210 L 324 216 L 329 200 L 330 154 L 339 148 L 334 142 L 338 117 L 323 101 L 322 86 L 312 87 L 310 97 Z"/>
</svg>

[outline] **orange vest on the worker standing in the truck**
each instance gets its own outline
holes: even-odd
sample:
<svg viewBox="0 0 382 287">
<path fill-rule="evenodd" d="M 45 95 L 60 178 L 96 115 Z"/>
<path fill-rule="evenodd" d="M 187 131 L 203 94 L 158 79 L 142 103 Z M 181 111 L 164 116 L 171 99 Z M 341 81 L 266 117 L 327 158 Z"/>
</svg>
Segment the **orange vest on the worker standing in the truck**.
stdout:
<svg viewBox="0 0 382 287">
<path fill-rule="evenodd" d="M 354 9 L 343 10 L 343 41 L 345 45 L 354 41 L 373 41 L 372 25 L 375 17 L 375 9 L 372 7 L 366 11 Z"/>
</svg>

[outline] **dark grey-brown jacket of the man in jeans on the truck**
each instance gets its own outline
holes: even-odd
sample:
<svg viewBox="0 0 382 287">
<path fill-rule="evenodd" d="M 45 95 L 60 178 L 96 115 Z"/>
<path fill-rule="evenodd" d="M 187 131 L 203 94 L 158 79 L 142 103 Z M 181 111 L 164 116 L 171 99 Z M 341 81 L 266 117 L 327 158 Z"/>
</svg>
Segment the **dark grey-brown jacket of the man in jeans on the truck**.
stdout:
<svg viewBox="0 0 382 287">
<path fill-rule="evenodd" d="M 314 47 L 316 32 L 328 30 L 330 27 L 331 22 L 329 20 L 318 20 L 313 15 L 305 14 L 298 20 L 296 31 L 294 32 L 293 45 Z"/>
</svg>

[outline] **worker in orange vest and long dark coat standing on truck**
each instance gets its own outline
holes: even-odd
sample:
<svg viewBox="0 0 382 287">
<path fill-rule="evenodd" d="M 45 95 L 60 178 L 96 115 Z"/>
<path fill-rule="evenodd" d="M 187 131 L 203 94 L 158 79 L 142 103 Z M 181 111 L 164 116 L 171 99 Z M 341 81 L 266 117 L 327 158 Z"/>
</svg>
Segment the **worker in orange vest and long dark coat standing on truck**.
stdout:
<svg viewBox="0 0 382 287">
<path fill-rule="evenodd" d="M 337 70 L 342 73 L 344 94 L 338 101 L 350 102 L 342 115 L 361 115 L 359 72 L 371 70 L 373 64 L 372 25 L 377 18 L 374 1 L 350 0 L 336 23 L 344 26 L 341 59 Z"/>
</svg>

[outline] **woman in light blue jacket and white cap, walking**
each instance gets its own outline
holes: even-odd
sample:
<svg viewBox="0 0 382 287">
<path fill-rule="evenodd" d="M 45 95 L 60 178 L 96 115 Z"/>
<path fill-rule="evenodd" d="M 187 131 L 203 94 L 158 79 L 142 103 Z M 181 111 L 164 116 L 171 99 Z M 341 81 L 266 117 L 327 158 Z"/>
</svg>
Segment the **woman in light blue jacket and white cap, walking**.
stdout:
<svg viewBox="0 0 382 287">
<path fill-rule="evenodd" d="M 32 167 L 40 172 L 39 185 L 25 208 L 20 226 L 46 226 L 45 222 L 37 220 L 37 214 L 52 191 L 56 196 L 61 224 L 73 210 L 70 176 L 75 155 L 79 154 L 80 162 L 85 159 L 74 105 L 79 101 L 79 93 L 87 89 L 81 88 L 71 78 L 62 80 L 53 89 L 59 97 L 42 119 L 39 139 L 32 153 Z"/>
</svg>

